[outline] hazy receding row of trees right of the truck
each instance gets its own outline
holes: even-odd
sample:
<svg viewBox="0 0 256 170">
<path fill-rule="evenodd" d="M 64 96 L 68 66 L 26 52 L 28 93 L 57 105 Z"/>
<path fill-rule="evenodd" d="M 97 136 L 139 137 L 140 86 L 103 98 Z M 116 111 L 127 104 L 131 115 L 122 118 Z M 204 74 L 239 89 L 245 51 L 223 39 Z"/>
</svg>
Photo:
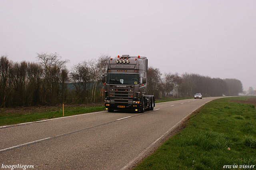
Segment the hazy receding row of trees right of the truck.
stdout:
<svg viewBox="0 0 256 170">
<path fill-rule="evenodd" d="M 160 83 L 159 83 L 160 82 Z M 220 79 L 196 73 L 160 73 L 158 68 L 148 68 L 148 94 L 158 97 L 193 97 L 196 93 L 208 96 L 236 96 L 243 92 L 238 79 Z"/>
</svg>

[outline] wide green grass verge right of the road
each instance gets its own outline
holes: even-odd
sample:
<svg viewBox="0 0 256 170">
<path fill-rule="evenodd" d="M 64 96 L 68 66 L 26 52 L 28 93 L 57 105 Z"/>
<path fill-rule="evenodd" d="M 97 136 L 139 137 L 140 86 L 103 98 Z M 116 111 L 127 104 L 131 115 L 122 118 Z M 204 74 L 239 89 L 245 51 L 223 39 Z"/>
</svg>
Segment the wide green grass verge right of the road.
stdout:
<svg viewBox="0 0 256 170">
<path fill-rule="evenodd" d="M 239 166 L 256 165 L 256 109 L 230 102 L 246 99 L 228 97 L 207 103 L 184 130 L 135 170 L 220 170 L 224 165 L 232 165 L 228 168 L 232 170 L 252 169 Z"/>
</svg>

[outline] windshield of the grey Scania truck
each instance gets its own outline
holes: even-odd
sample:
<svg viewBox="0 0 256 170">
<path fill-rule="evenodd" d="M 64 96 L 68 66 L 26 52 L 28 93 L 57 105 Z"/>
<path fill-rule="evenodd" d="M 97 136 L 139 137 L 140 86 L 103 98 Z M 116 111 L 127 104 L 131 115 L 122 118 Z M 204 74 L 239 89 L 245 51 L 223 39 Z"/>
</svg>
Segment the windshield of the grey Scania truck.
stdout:
<svg viewBox="0 0 256 170">
<path fill-rule="evenodd" d="M 113 74 L 108 73 L 107 77 L 108 84 L 125 84 L 125 85 L 136 85 L 139 84 L 138 74 Z"/>
</svg>

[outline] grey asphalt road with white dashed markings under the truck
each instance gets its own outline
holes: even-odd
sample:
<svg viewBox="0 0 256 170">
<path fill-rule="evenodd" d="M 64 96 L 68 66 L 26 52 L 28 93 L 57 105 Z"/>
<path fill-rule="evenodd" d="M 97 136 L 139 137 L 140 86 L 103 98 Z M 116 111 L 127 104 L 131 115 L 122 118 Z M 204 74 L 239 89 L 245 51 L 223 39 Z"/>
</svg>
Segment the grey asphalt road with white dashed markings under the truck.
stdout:
<svg viewBox="0 0 256 170">
<path fill-rule="evenodd" d="M 0 127 L 0 168 L 129 169 L 184 117 L 217 98 L 156 103 L 144 113 L 103 111 Z"/>
</svg>

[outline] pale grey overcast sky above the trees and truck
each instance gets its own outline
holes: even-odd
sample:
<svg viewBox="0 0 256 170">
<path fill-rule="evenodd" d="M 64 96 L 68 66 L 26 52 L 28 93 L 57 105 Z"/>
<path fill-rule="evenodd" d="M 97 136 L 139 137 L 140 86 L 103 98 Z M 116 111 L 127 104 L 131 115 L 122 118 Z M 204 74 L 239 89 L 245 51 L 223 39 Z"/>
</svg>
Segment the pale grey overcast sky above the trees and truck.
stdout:
<svg viewBox="0 0 256 170">
<path fill-rule="evenodd" d="M 0 24 L 0 55 L 14 62 L 141 55 L 161 73 L 256 89 L 256 0 L 0 0 Z"/>
</svg>

